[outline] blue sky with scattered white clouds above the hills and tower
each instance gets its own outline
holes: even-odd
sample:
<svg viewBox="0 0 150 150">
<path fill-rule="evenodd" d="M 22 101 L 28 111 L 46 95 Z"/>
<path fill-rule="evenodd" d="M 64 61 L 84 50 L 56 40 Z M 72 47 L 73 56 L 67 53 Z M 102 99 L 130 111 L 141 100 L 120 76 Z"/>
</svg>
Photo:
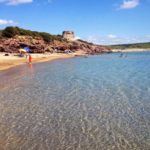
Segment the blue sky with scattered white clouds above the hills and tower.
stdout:
<svg viewBox="0 0 150 150">
<path fill-rule="evenodd" d="M 150 0 L 0 0 L 0 29 L 19 26 L 110 45 L 150 42 Z"/>
</svg>

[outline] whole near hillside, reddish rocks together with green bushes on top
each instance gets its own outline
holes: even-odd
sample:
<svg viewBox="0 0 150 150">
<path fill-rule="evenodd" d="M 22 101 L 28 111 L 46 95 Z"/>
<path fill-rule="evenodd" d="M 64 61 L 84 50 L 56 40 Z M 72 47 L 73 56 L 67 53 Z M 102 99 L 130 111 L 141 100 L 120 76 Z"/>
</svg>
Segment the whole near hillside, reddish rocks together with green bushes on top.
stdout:
<svg viewBox="0 0 150 150">
<path fill-rule="evenodd" d="M 61 35 L 46 32 L 25 30 L 19 27 L 7 27 L 0 31 L 0 52 L 16 53 L 19 48 L 28 46 L 31 53 L 72 52 L 83 50 L 87 54 L 111 52 L 111 49 L 101 45 L 94 45 L 86 41 L 67 41 Z"/>
</svg>

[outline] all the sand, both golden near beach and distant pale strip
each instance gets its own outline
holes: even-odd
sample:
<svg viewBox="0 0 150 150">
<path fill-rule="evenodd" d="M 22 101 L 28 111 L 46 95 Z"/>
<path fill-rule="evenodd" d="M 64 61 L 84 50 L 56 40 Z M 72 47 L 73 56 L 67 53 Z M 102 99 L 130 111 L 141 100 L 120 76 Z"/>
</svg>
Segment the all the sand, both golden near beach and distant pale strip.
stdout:
<svg viewBox="0 0 150 150">
<path fill-rule="evenodd" d="M 150 49 L 112 49 L 113 53 L 116 52 L 146 52 L 150 51 Z M 5 56 L 6 53 L 0 52 L 0 71 L 4 71 L 10 68 L 13 68 L 18 65 L 23 65 L 28 63 L 28 59 L 25 57 L 19 57 L 15 54 L 9 54 L 9 56 Z M 56 59 L 66 59 L 66 58 L 73 58 L 76 56 L 86 56 L 86 53 L 84 51 L 77 51 L 75 53 L 45 53 L 45 54 L 39 54 L 39 53 L 33 53 L 32 55 L 32 63 L 41 63 L 41 62 L 47 62 L 47 61 L 53 61 Z"/>
</svg>

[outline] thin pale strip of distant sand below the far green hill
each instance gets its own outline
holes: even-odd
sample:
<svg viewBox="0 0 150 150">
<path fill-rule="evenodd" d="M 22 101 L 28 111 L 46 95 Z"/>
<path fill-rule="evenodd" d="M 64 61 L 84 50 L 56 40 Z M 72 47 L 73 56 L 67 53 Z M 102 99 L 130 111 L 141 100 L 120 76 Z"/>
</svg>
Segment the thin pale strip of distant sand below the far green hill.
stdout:
<svg viewBox="0 0 150 150">
<path fill-rule="evenodd" d="M 112 49 L 112 52 L 145 52 L 145 51 L 150 51 L 150 49 L 137 49 L 137 48 L 132 48 L 132 49 Z"/>
</svg>

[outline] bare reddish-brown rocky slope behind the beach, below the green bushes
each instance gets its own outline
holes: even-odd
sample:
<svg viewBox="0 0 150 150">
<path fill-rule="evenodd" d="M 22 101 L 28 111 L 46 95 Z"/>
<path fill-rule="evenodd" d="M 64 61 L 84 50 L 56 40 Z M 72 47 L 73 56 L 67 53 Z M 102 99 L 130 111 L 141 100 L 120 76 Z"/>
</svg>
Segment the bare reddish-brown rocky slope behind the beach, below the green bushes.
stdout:
<svg viewBox="0 0 150 150">
<path fill-rule="evenodd" d="M 83 50 L 87 54 L 99 54 L 111 52 L 111 49 L 86 43 L 83 41 L 74 42 L 62 42 L 54 40 L 50 43 L 46 43 L 40 37 L 31 36 L 15 36 L 13 38 L 1 38 L 0 39 L 0 52 L 16 53 L 19 48 L 28 46 L 32 53 L 44 53 L 44 52 L 65 52 L 65 50 L 78 51 Z"/>
</svg>

